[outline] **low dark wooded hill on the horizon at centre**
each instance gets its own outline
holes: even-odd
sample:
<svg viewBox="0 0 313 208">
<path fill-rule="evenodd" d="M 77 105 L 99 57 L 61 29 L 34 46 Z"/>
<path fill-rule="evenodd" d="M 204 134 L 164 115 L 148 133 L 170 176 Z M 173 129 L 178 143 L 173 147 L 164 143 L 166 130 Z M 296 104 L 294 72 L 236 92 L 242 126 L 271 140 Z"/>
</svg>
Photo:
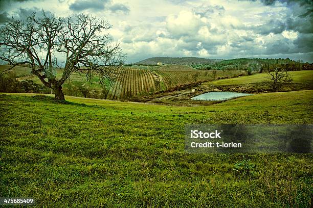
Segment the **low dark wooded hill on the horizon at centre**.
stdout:
<svg viewBox="0 0 313 208">
<path fill-rule="evenodd" d="M 139 61 L 135 64 L 156 65 L 158 62 L 162 62 L 162 64 L 191 65 L 191 64 L 212 64 L 219 61 L 222 61 L 222 59 L 204 59 L 198 57 L 152 57 Z"/>
</svg>

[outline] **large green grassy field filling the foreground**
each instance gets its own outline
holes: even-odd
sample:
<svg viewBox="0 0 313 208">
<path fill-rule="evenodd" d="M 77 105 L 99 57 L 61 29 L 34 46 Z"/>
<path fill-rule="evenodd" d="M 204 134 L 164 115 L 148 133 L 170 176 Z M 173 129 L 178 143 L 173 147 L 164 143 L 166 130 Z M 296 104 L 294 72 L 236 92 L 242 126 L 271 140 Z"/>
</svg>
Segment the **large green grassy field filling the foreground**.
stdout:
<svg viewBox="0 0 313 208">
<path fill-rule="evenodd" d="M 0 193 L 35 207 L 311 207 L 312 154 L 187 154 L 184 125 L 312 123 L 312 95 L 169 107 L 2 93 Z M 233 170 L 243 160 L 255 174 Z"/>
</svg>

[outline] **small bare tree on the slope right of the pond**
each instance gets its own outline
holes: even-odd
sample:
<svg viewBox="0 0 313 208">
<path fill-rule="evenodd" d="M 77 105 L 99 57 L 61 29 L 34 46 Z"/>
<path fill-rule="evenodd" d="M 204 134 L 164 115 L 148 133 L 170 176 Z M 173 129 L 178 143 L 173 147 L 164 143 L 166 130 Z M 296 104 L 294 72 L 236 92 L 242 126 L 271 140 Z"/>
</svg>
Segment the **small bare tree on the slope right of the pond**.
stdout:
<svg viewBox="0 0 313 208">
<path fill-rule="evenodd" d="M 269 72 L 269 75 L 270 84 L 274 92 L 276 92 L 284 84 L 291 83 L 293 81 L 287 70 L 282 68 L 275 68 L 273 72 Z"/>
</svg>

